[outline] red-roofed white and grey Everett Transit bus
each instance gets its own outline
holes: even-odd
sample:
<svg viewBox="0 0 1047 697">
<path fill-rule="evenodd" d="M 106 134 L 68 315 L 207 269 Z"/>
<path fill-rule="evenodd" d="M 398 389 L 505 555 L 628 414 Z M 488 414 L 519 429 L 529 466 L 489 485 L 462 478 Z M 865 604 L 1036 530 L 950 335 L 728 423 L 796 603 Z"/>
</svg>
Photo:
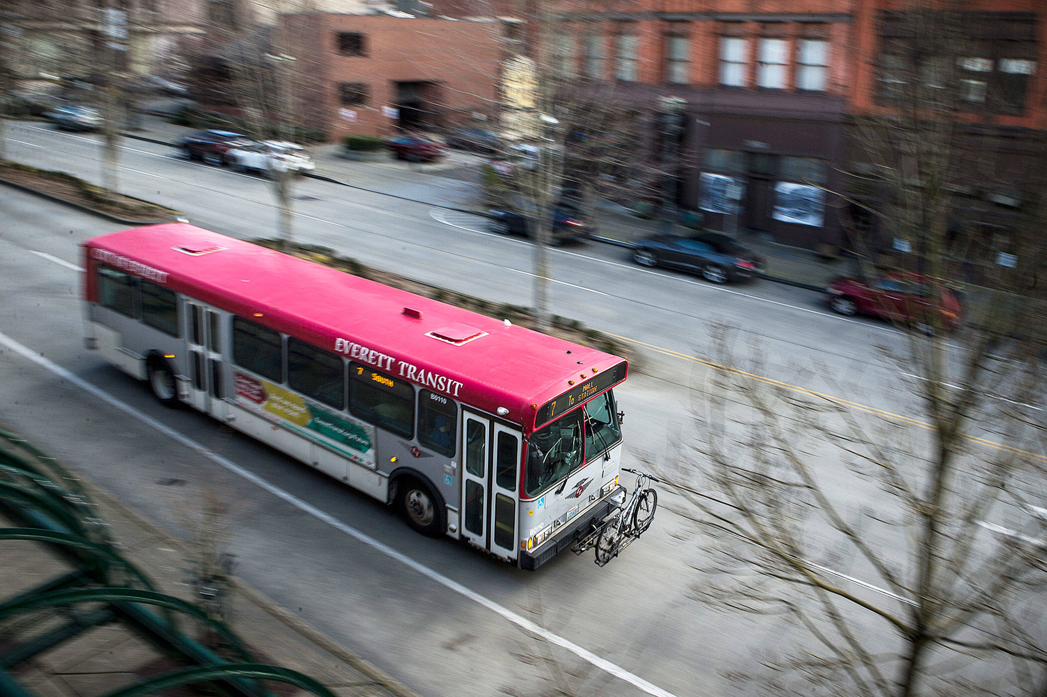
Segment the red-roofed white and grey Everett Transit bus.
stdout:
<svg viewBox="0 0 1047 697">
<path fill-rule="evenodd" d="M 624 358 L 186 224 L 84 243 L 97 349 L 524 568 L 621 499 Z"/>
</svg>

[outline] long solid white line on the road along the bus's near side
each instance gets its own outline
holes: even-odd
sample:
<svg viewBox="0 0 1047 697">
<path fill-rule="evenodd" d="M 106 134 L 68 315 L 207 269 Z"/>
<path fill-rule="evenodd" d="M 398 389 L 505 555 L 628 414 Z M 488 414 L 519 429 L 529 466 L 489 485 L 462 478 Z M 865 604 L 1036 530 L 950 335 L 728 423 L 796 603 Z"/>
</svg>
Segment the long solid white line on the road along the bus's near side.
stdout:
<svg viewBox="0 0 1047 697">
<path fill-rule="evenodd" d="M 25 358 L 28 358 L 29 361 L 31 361 L 32 363 L 37 364 L 41 368 L 44 368 L 44 369 L 46 369 L 46 370 L 54 373 L 55 375 L 58 375 L 62 379 L 67 380 L 67 381 L 71 382 L 72 385 L 75 385 L 80 389 L 82 389 L 85 392 L 93 395 L 94 397 L 97 397 L 98 399 L 101 399 L 102 401 L 106 402 L 110 406 L 113 406 L 114 409 L 117 409 L 117 410 L 124 412 L 128 416 L 130 416 L 130 417 L 132 417 L 134 419 L 137 419 L 138 421 L 141 421 L 142 423 L 144 423 L 146 425 L 150 426 L 151 428 L 154 428 L 154 429 L 162 433 L 163 435 L 168 436 L 169 438 L 171 438 L 171 439 L 173 439 L 173 440 L 181 443 L 185 447 L 188 447 L 188 448 L 192 448 L 192 449 L 196 450 L 198 454 L 200 454 L 203 457 L 207 458 L 211 462 L 218 464 L 219 466 L 227 469 L 228 471 L 230 471 L 230 472 L 232 472 L 232 473 L 235 473 L 235 474 L 237 474 L 239 477 L 242 477 L 243 479 L 245 479 L 248 482 L 250 482 L 251 484 L 253 484 L 253 485 L 255 485 L 255 486 L 264 489 L 265 491 L 269 492 L 270 494 L 272 494 L 272 495 L 274 495 L 274 496 L 276 496 L 279 498 L 282 498 L 283 501 L 287 502 L 291 506 L 294 506 L 298 510 L 304 511 L 304 512 L 308 513 L 309 515 L 312 515 L 316 519 L 321 520 L 321 521 L 328 524 L 329 526 L 331 526 L 335 530 L 338 530 L 339 532 L 342 532 L 342 533 L 347 534 L 350 537 L 353 537 L 353 538 L 359 540 L 360 542 L 362 542 L 362 543 L 364 543 L 364 544 L 366 544 L 366 545 L 369 545 L 369 547 L 377 550 L 378 552 L 384 554 L 385 556 L 389 557 L 391 559 L 395 559 L 396 561 L 399 561 L 404 566 L 407 566 L 408 568 L 410 568 L 410 570 L 413 570 L 413 571 L 421 574 L 422 576 L 425 576 L 426 578 L 428 578 L 428 579 L 430 579 L 432 581 L 436 581 L 437 583 L 439 583 L 440 585 L 444 586 L 445 588 L 447 588 L 449 590 L 453 590 L 454 593 L 456 593 L 460 596 L 466 598 L 467 600 L 471 600 L 472 602 L 486 607 L 487 609 L 491 610 L 492 612 L 502 615 L 503 618 L 505 618 L 506 620 L 508 620 L 512 624 L 516 625 L 517 627 L 519 627 L 524 631 L 528 631 L 528 632 L 531 632 L 532 634 L 536 634 L 536 635 L 542 637 L 543 640 L 545 640 L 547 642 L 549 642 L 551 644 L 555 644 L 556 646 L 559 646 L 559 647 L 561 647 L 563 649 L 566 649 L 567 651 L 572 652 L 573 654 L 575 654 L 579 658 L 581 658 L 581 659 L 583 659 L 583 660 L 592 664 L 593 666 L 599 668 L 600 670 L 602 670 L 602 671 L 604 671 L 604 672 L 606 672 L 606 673 L 608 673 L 610 675 L 614 675 L 615 677 L 617 677 L 619 679 L 622 679 L 622 680 L 628 682 L 629 684 L 633 686 L 634 688 L 637 688 L 639 690 L 642 690 L 643 692 L 647 693 L 648 695 L 655 695 L 656 697 L 675 697 L 675 695 L 673 695 L 671 692 L 663 690 L 662 688 L 658 687 L 656 684 L 653 684 L 652 682 L 648 682 L 647 680 L 643 679 L 639 675 L 630 673 L 629 671 L 625 670 L 621 666 L 618 666 L 617 664 L 612 664 L 611 661 L 607 660 L 606 658 L 602 658 L 602 657 L 596 655 L 595 653 L 593 653 L 588 649 L 582 648 L 581 646 L 578 646 L 574 642 L 572 642 L 570 640 L 566 640 L 566 638 L 560 636 L 559 634 L 553 633 L 552 631 L 550 631 L 550 630 L 545 629 L 544 627 L 542 627 L 542 626 L 540 626 L 540 625 L 538 625 L 538 624 L 536 624 L 534 622 L 532 622 L 531 620 L 528 620 L 527 618 L 521 617 L 521 615 L 517 614 L 516 612 L 513 612 L 508 607 L 505 607 L 504 605 L 499 605 L 498 603 L 496 603 L 493 600 L 487 598 L 486 596 L 482 596 L 481 594 L 476 593 L 475 590 L 472 590 L 471 588 L 468 588 L 465 585 L 462 585 L 458 581 L 444 576 L 440 572 L 437 572 L 437 571 L 435 571 L 432 568 L 429 568 L 428 566 L 426 566 L 425 564 L 423 564 L 423 563 L 421 563 L 419 561 L 415 561 L 414 559 L 411 559 L 407 555 L 403 554 L 402 552 L 399 552 L 399 551 L 391 548 L 389 545 L 385 544 L 384 542 L 381 542 L 381 541 L 375 539 L 371 535 L 367 535 L 366 533 L 360 532 L 356 528 L 353 528 L 352 526 L 349 526 L 349 525 L 342 522 L 341 520 L 339 520 L 338 518 L 334 517 L 333 515 L 321 511 L 320 509 L 316 508 L 315 506 L 313 506 L 311 504 L 306 503 L 305 501 L 298 498 L 294 494 L 292 494 L 292 493 L 290 493 L 288 491 L 285 491 L 284 489 L 281 489 L 276 485 L 270 484 L 268 481 L 262 479 L 261 477 L 259 477 L 258 474 L 255 474 L 255 473 L 253 473 L 251 471 L 248 471 L 248 470 L 244 469 L 240 465 L 233 463 L 231 460 L 228 460 L 227 458 L 224 458 L 223 456 L 220 456 L 217 452 L 214 452 L 213 450 L 209 450 L 203 444 L 198 443 L 197 441 L 193 440 L 188 436 L 185 436 L 185 435 L 179 433 L 178 431 L 175 431 L 171 426 L 169 426 L 169 425 L 166 425 L 164 423 L 161 423 L 160 421 L 157 421 L 156 419 L 152 418 L 151 416 L 147 416 L 146 414 L 142 414 L 142 413 L 136 411 L 133 406 L 131 406 L 127 402 L 124 402 L 124 401 L 117 399 L 116 397 L 112 396 L 108 392 L 105 392 L 101 388 L 91 385 L 87 380 L 84 380 L 83 378 L 74 375 L 73 373 L 71 373 L 70 371 L 66 370 L 65 368 L 62 368 L 61 366 L 52 363 L 51 361 L 48 361 L 47 358 L 45 358 L 44 356 L 40 355 L 39 353 L 29 350 L 28 348 L 26 348 L 22 344 L 19 344 L 14 339 L 12 339 L 10 336 L 7 336 L 6 334 L 4 334 L 2 332 L 0 332 L 0 344 L 3 344 L 8 349 L 10 349 L 12 351 L 18 353 L 19 355 L 21 355 L 21 356 L 23 356 Z"/>
</svg>

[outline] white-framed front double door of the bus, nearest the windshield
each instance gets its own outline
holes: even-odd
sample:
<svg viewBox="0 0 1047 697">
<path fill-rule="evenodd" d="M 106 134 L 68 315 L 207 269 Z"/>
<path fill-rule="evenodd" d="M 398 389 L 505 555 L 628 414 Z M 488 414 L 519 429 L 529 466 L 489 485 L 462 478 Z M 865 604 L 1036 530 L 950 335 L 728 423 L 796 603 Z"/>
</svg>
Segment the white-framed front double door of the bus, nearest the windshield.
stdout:
<svg viewBox="0 0 1047 697">
<path fill-rule="evenodd" d="M 516 559 L 520 433 L 463 410 L 462 536 Z"/>
</svg>

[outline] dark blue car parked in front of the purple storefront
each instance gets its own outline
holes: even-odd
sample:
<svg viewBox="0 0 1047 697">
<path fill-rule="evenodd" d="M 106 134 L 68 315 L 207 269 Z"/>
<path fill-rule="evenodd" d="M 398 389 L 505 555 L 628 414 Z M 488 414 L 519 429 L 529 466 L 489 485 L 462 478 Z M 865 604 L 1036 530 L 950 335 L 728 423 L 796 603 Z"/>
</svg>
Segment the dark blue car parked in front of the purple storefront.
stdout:
<svg viewBox="0 0 1047 697">
<path fill-rule="evenodd" d="M 637 242 L 632 259 L 644 266 L 693 271 L 711 283 L 740 281 L 763 272 L 764 260 L 733 237 L 699 232 L 683 237 L 653 235 Z"/>
</svg>

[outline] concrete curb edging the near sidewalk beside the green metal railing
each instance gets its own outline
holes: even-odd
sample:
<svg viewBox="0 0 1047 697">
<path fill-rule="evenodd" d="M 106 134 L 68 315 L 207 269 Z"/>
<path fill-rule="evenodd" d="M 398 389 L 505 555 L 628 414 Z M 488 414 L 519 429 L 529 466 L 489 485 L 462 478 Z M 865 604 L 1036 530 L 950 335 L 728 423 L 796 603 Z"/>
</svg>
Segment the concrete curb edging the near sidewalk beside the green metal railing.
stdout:
<svg viewBox="0 0 1047 697">
<path fill-rule="evenodd" d="M 92 497 L 105 501 L 106 505 L 118 510 L 122 515 L 134 520 L 143 530 L 148 530 L 151 535 L 164 540 L 164 543 L 170 544 L 172 548 L 178 550 L 182 555 L 191 555 L 192 552 L 186 548 L 185 543 L 177 537 L 173 537 L 168 533 L 160 530 L 152 520 L 147 518 L 144 515 L 138 511 L 128 507 L 122 502 L 116 499 L 108 491 L 99 487 L 94 482 L 87 480 L 80 472 L 76 472 L 77 481 L 80 484 L 87 489 Z M 315 629 L 309 625 L 304 620 L 300 620 L 293 614 L 291 614 L 287 609 L 276 605 L 269 598 L 259 590 L 255 590 L 252 586 L 248 585 L 246 581 L 242 580 L 238 576 L 233 576 L 229 579 L 237 588 L 242 591 L 245 596 L 249 597 L 251 602 L 257 604 L 263 610 L 268 612 L 277 621 L 286 625 L 291 631 L 295 631 L 306 638 L 308 638 L 313 644 L 316 644 L 319 648 L 332 654 L 334 657 L 349 664 L 353 669 L 359 671 L 367 678 L 370 678 L 375 684 L 379 686 L 383 690 L 396 695 L 396 697 L 419 697 L 418 693 L 408 689 L 396 678 L 386 675 L 379 668 L 375 667 L 371 663 L 360 658 L 359 656 L 351 653 L 349 649 L 341 646 L 329 636 L 324 635 L 319 630 Z"/>
</svg>

